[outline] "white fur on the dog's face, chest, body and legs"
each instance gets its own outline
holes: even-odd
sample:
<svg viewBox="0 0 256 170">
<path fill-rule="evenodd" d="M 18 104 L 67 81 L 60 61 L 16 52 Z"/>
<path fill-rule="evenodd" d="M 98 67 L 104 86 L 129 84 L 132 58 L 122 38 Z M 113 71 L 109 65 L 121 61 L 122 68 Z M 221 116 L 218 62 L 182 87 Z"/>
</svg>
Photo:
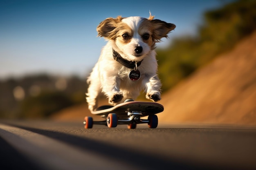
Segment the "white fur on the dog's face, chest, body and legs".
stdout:
<svg viewBox="0 0 256 170">
<path fill-rule="evenodd" d="M 122 18 L 121 22 L 127 24 L 133 31 L 130 42 L 128 43 L 122 43 L 117 38 L 110 39 L 104 36 L 109 41 L 103 47 L 99 60 L 87 80 L 90 85 L 88 93 L 86 93 L 86 99 L 91 111 L 97 108 L 97 97 L 100 93 L 104 93 L 112 105 L 124 102 L 125 99 L 136 99 L 141 90 L 146 92 L 147 99 L 155 102 L 161 99 L 160 92 L 162 84 L 157 76 L 157 60 L 153 48 L 155 43 L 149 46 L 138 33 L 139 26 L 144 20 L 147 19 L 141 17 Z M 172 29 L 174 28 L 172 27 Z M 167 35 L 165 34 L 165 36 Z M 139 57 L 134 55 L 136 46 L 143 48 Z M 143 60 L 141 65 L 137 67 L 141 73 L 138 81 L 133 82 L 129 79 L 128 74 L 132 69 L 115 61 L 112 56 L 112 49 L 117 51 L 126 60 L 138 62 Z"/>
</svg>

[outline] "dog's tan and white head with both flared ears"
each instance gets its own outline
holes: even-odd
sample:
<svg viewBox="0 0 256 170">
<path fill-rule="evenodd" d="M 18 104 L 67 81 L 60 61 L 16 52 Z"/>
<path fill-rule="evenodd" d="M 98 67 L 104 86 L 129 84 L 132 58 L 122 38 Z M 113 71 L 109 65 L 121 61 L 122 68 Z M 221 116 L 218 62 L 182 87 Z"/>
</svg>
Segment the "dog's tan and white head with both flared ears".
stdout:
<svg viewBox="0 0 256 170">
<path fill-rule="evenodd" d="M 175 25 L 154 16 L 147 18 L 128 17 L 107 18 L 97 27 L 98 36 L 111 40 L 112 46 L 122 57 L 141 61 L 153 49 L 155 43 L 175 29 Z"/>
</svg>

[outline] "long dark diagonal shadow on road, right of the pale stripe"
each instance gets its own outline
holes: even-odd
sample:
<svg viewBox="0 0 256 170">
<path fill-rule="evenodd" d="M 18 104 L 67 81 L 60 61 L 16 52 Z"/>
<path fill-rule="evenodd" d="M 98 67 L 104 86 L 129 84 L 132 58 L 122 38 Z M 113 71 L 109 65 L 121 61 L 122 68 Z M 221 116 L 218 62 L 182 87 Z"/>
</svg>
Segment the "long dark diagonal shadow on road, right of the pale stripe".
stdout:
<svg viewBox="0 0 256 170">
<path fill-rule="evenodd" d="M 186 162 L 177 162 L 171 158 L 159 157 L 159 155 L 146 155 L 136 150 L 128 150 L 126 148 L 121 148 L 119 146 L 114 146 L 111 144 L 106 144 L 100 141 L 95 141 L 92 139 L 78 137 L 70 134 L 65 134 L 63 132 L 56 132 L 51 130 L 42 130 L 37 128 L 19 126 L 9 124 L 24 130 L 29 130 L 40 135 L 50 137 L 52 139 L 65 142 L 79 149 L 90 152 L 97 153 L 101 156 L 112 158 L 117 162 L 122 162 L 137 167 L 136 169 L 172 169 L 172 170 L 192 170 L 200 169 L 203 167 L 186 164 Z M 154 146 L 152 146 L 154 147 Z M 209 169 L 209 167 L 207 167 Z"/>
</svg>

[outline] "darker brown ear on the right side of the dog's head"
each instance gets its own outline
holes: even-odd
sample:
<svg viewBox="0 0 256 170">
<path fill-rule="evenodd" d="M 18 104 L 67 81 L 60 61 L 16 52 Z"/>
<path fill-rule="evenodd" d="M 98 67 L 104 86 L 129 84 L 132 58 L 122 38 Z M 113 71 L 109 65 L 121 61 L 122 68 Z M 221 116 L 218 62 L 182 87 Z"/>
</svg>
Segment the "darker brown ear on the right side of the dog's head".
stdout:
<svg viewBox="0 0 256 170">
<path fill-rule="evenodd" d="M 170 33 L 173 29 L 175 29 L 176 25 L 164 22 L 162 20 L 150 20 L 150 22 L 154 26 L 154 39 L 159 42 L 161 38 L 167 38 L 167 34 Z"/>
</svg>

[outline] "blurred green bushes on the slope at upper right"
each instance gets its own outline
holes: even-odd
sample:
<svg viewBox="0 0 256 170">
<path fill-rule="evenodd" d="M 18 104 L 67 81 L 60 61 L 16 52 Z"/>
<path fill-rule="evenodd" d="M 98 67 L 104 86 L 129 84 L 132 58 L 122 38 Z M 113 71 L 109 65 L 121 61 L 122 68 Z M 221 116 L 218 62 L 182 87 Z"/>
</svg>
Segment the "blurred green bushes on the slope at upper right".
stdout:
<svg viewBox="0 0 256 170">
<path fill-rule="evenodd" d="M 230 50 L 255 29 L 256 0 L 238 0 L 204 13 L 204 23 L 196 36 L 176 38 L 168 48 L 157 51 L 163 91 Z"/>
</svg>

